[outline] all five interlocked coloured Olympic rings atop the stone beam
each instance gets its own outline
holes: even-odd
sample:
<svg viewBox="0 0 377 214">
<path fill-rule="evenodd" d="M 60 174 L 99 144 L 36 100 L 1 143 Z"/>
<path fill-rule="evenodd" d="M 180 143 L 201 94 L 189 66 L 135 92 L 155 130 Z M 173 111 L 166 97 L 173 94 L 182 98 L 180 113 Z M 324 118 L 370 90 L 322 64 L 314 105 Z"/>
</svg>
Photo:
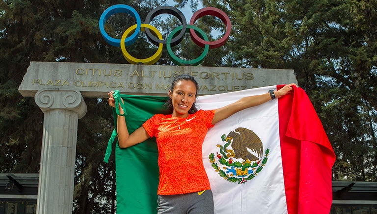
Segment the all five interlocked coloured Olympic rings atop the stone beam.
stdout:
<svg viewBox="0 0 377 214">
<path fill-rule="evenodd" d="M 135 18 L 136 24 L 129 27 L 122 35 L 122 39 L 115 39 L 110 37 L 104 29 L 104 25 L 108 18 L 116 13 L 127 13 L 131 15 L 132 17 Z M 149 23 L 155 18 L 156 16 L 160 14 L 170 14 L 175 16 L 177 19 L 181 21 L 181 26 L 175 28 L 169 35 L 168 38 L 165 40 L 162 40 L 162 35 L 161 33 L 153 26 L 149 25 Z M 195 22 L 206 15 L 212 15 L 216 16 L 219 19 L 223 21 L 223 23 L 226 25 L 226 32 L 224 36 L 216 41 L 209 41 L 207 35 L 204 33 L 203 30 L 199 29 L 198 27 L 194 26 Z M 142 63 L 142 64 L 153 64 L 157 62 L 157 60 L 161 57 L 162 55 L 162 48 L 166 47 L 168 56 L 177 65 L 198 65 L 204 61 L 204 58 L 206 57 L 208 53 L 208 49 L 213 49 L 213 48 L 218 48 L 225 44 L 225 42 L 228 40 L 230 31 L 231 31 L 231 22 L 229 17 L 220 9 L 217 9 L 215 7 L 206 7 L 203 9 L 198 10 L 196 13 L 193 14 L 190 24 L 186 24 L 186 18 L 182 14 L 180 10 L 178 10 L 175 7 L 171 6 L 162 6 L 162 7 L 157 7 L 150 11 L 145 19 L 146 24 L 141 24 L 141 18 L 140 15 L 135 11 L 134 8 L 124 5 L 124 4 L 116 4 L 108 9 L 106 9 L 99 21 L 99 27 L 100 27 L 100 32 L 102 34 L 102 37 L 105 39 L 108 44 L 115 46 L 115 47 L 121 47 L 122 53 L 124 58 L 131 64 L 137 64 L 137 63 Z M 146 59 L 136 59 L 135 57 L 131 56 L 125 46 L 129 46 L 133 44 L 136 39 L 139 37 L 140 31 L 144 31 L 148 40 L 158 46 L 159 48 L 157 49 L 156 53 L 153 54 L 153 56 L 148 57 Z M 171 47 L 179 44 L 184 36 L 185 33 L 190 33 L 191 39 L 195 42 L 196 45 L 204 48 L 203 53 L 196 59 L 193 60 L 182 60 L 175 56 L 173 53 Z M 197 35 L 197 33 L 200 34 L 200 36 Z M 131 34 L 131 35 L 130 35 Z"/>
</svg>

